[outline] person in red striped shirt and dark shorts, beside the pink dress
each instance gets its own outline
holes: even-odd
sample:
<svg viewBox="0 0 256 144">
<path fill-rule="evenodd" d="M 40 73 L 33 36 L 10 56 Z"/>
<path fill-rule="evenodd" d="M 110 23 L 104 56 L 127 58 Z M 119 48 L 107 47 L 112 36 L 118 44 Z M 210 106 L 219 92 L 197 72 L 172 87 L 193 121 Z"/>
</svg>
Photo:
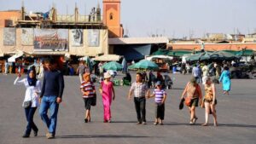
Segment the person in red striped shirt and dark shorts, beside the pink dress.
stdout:
<svg viewBox="0 0 256 144">
<path fill-rule="evenodd" d="M 93 96 L 96 94 L 95 86 L 90 81 L 90 73 L 85 72 L 83 75 L 84 81 L 82 82 L 80 89 L 84 98 L 84 123 L 90 122 L 90 106 L 93 101 Z"/>
</svg>

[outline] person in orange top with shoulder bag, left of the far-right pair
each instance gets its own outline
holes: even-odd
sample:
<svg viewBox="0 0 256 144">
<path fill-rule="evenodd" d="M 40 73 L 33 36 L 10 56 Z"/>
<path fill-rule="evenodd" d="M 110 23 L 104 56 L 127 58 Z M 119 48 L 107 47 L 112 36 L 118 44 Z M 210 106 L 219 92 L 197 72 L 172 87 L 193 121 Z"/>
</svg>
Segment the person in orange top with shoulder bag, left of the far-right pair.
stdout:
<svg viewBox="0 0 256 144">
<path fill-rule="evenodd" d="M 189 103 L 189 113 L 190 113 L 190 125 L 195 124 L 197 117 L 195 115 L 195 107 L 198 107 L 198 102 L 201 104 L 201 88 L 200 85 L 196 83 L 195 78 L 192 78 L 183 90 L 183 95 L 181 99 L 184 99 L 184 95 L 187 94 L 186 98 L 190 100 Z"/>
</svg>

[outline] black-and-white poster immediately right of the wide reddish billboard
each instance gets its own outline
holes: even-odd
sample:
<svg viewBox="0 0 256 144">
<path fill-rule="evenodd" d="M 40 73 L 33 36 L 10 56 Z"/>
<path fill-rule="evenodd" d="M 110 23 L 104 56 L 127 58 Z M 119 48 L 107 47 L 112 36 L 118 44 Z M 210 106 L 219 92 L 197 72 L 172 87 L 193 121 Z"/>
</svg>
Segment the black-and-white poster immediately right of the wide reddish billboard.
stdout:
<svg viewBox="0 0 256 144">
<path fill-rule="evenodd" d="M 73 29 L 70 30 L 71 31 L 71 35 L 70 35 L 70 39 L 71 39 L 71 45 L 74 47 L 80 47 L 83 46 L 83 36 L 84 36 L 84 31 L 83 29 Z"/>
</svg>

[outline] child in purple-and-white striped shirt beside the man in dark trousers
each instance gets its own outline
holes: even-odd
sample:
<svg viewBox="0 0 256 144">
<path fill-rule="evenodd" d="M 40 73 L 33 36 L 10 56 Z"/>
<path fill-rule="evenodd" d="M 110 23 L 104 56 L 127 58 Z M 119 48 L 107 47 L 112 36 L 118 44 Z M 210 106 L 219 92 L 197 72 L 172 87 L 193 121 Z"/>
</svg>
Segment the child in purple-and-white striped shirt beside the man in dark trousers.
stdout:
<svg viewBox="0 0 256 144">
<path fill-rule="evenodd" d="M 148 98 L 154 97 L 155 102 L 155 120 L 154 125 L 163 125 L 163 120 L 165 118 L 165 101 L 166 101 L 166 91 L 162 89 L 161 82 L 156 83 L 156 89 L 154 89 L 153 95 L 149 95 Z"/>
</svg>

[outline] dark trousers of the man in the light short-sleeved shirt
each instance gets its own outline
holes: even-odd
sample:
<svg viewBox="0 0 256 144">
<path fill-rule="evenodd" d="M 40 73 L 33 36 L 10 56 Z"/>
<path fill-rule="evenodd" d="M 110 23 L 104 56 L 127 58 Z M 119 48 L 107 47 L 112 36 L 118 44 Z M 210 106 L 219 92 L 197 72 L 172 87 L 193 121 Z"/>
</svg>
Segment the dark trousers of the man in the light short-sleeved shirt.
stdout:
<svg viewBox="0 0 256 144">
<path fill-rule="evenodd" d="M 137 121 L 146 122 L 146 99 L 145 97 L 134 97 L 135 109 L 137 112 Z"/>
</svg>

